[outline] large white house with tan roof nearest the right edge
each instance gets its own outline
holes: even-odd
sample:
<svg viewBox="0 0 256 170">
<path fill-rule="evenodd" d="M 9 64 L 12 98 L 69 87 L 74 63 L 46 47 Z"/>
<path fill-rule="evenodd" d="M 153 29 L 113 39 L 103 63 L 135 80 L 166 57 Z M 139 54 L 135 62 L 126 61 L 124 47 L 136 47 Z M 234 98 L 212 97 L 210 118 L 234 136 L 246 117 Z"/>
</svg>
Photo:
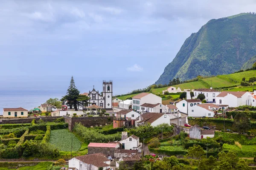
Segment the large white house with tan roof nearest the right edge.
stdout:
<svg viewBox="0 0 256 170">
<path fill-rule="evenodd" d="M 216 96 L 216 105 L 229 105 L 229 107 L 250 105 L 250 96 L 252 96 L 252 94 L 247 91 L 222 91 Z"/>
</svg>

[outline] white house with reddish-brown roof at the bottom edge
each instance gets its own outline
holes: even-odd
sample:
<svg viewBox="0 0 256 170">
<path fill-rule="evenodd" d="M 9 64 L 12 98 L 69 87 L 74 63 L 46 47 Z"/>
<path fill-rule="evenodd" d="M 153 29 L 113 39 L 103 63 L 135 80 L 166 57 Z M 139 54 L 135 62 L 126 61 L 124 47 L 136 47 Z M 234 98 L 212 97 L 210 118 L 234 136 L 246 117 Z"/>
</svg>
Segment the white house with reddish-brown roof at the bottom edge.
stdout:
<svg viewBox="0 0 256 170">
<path fill-rule="evenodd" d="M 68 166 L 68 170 L 98 170 L 99 167 L 107 170 L 110 169 L 110 160 L 102 153 L 94 153 L 74 157 L 68 161 Z"/>
</svg>

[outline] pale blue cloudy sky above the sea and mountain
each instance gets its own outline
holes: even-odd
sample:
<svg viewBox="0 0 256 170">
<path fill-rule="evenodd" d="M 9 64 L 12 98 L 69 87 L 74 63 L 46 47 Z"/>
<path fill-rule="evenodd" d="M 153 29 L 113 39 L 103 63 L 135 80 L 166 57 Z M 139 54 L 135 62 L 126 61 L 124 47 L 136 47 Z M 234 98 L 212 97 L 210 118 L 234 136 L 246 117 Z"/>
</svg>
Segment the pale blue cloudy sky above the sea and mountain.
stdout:
<svg viewBox="0 0 256 170">
<path fill-rule="evenodd" d="M 253 12 L 256 0 L 1 0 L 0 90 L 113 94 L 153 84 L 211 19 Z"/>
</svg>

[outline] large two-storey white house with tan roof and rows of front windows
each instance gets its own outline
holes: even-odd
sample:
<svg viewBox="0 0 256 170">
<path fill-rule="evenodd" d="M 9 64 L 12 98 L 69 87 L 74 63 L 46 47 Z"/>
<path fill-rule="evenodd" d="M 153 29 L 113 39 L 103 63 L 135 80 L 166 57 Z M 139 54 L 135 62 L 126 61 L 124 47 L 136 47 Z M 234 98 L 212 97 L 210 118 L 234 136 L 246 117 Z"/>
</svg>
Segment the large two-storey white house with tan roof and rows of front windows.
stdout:
<svg viewBox="0 0 256 170">
<path fill-rule="evenodd" d="M 142 111 L 141 105 L 143 105 L 144 103 L 162 103 L 162 98 L 151 93 L 141 93 L 132 97 L 132 109 L 134 109 L 135 111 Z"/>
</svg>

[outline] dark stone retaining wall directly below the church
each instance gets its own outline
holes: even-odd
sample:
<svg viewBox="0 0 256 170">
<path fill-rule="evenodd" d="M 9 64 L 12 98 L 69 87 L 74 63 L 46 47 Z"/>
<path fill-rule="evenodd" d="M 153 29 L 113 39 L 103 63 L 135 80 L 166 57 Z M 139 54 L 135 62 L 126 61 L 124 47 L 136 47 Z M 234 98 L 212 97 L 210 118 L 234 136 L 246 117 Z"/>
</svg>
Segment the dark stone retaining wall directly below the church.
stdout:
<svg viewBox="0 0 256 170">
<path fill-rule="evenodd" d="M 76 123 L 81 123 L 85 127 L 95 127 L 100 126 L 100 125 L 105 125 L 105 124 L 111 124 L 113 123 L 113 117 L 112 116 L 104 116 L 104 117 L 68 117 L 68 116 L 63 116 L 64 121 L 68 123 L 68 129 L 73 130 L 73 127 L 75 126 Z"/>
</svg>

